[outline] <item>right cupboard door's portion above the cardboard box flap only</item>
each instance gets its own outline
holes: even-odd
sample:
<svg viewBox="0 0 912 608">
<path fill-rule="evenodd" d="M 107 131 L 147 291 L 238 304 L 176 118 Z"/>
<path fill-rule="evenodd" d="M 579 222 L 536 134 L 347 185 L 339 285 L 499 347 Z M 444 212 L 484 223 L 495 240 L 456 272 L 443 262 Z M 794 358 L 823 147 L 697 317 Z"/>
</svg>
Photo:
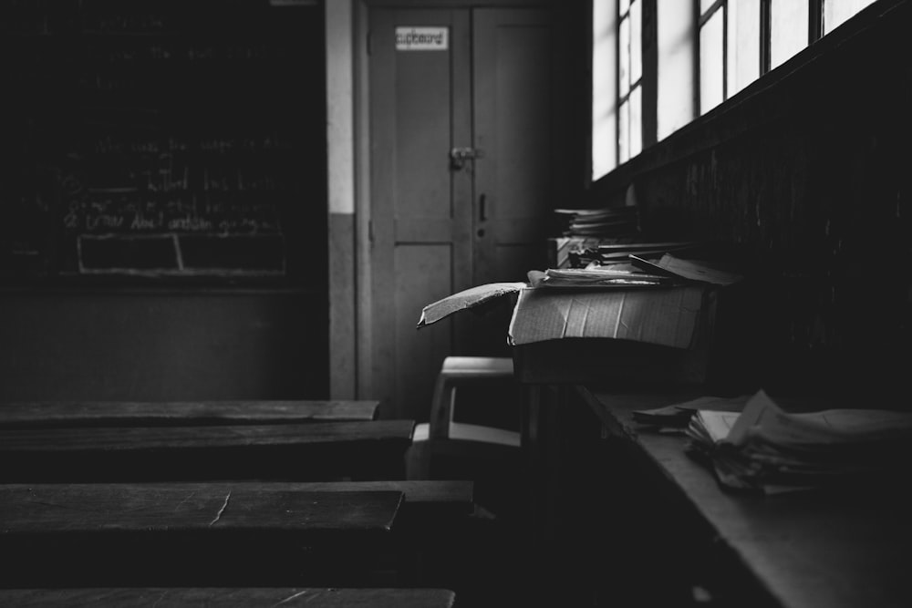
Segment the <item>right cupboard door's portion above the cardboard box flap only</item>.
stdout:
<svg viewBox="0 0 912 608">
<path fill-rule="evenodd" d="M 554 33 L 546 10 L 473 12 L 476 163 L 476 281 L 523 281 L 543 269 L 545 227 L 554 204 L 552 123 Z M 483 230 L 483 236 L 479 236 Z M 517 249 L 525 268 L 517 273 Z M 505 262 L 505 263 L 502 263 Z"/>
</svg>

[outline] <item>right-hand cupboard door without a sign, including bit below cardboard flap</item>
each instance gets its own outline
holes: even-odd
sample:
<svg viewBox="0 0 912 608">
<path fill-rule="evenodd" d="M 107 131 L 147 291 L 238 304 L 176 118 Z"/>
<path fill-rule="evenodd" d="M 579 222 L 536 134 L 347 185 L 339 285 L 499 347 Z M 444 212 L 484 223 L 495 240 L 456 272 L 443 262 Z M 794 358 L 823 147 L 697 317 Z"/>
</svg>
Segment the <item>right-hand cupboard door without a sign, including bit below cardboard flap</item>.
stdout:
<svg viewBox="0 0 912 608">
<path fill-rule="evenodd" d="M 567 190 L 562 30 L 544 9 L 472 11 L 472 282 L 525 281 L 544 270 L 551 211 Z M 510 304 L 510 303 L 506 303 Z M 510 356 L 512 306 L 470 315 L 466 354 Z"/>
</svg>

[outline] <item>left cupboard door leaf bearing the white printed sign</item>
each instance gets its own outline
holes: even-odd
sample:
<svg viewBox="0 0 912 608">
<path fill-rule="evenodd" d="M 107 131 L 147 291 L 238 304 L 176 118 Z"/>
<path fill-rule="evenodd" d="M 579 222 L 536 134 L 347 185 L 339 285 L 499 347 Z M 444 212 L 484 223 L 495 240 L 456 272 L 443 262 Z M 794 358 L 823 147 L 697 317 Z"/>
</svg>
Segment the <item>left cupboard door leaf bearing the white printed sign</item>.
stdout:
<svg viewBox="0 0 912 608">
<path fill-rule="evenodd" d="M 469 14 L 374 8 L 370 16 L 370 197 L 375 396 L 387 417 L 423 419 L 453 322 L 421 308 L 472 283 L 471 178 L 450 149 L 471 144 Z M 396 50 L 397 26 L 447 27 L 447 50 Z"/>
</svg>

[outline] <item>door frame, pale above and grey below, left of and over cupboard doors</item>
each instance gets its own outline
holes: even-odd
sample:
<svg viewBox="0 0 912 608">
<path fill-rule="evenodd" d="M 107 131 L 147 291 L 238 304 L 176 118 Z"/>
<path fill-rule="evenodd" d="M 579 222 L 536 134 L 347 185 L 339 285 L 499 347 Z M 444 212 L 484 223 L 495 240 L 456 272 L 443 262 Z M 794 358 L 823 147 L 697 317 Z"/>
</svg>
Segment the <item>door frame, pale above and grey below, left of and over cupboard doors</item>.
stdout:
<svg viewBox="0 0 912 608">
<path fill-rule="evenodd" d="M 335 4 L 337 0 L 332 0 Z M 542 8 L 560 7 L 559 0 L 350 0 L 350 10 L 326 11 L 327 34 L 349 34 L 351 72 L 342 77 L 343 84 L 333 86 L 339 75 L 327 74 L 327 103 L 330 107 L 340 101 L 347 106 L 350 94 L 350 117 L 337 114 L 336 119 L 350 119 L 346 125 L 329 125 L 327 138 L 330 149 L 343 149 L 341 157 L 347 168 L 341 176 L 329 176 L 329 324 L 330 324 L 330 398 L 370 398 L 373 396 L 375 370 L 373 360 L 373 319 L 371 300 L 372 268 L 371 201 L 370 201 L 370 121 L 368 16 L 372 7 L 388 8 Z M 326 0 L 329 4 L 329 0 Z M 333 18 L 335 23 L 330 24 Z M 338 20 L 350 20 L 350 24 Z M 347 27 L 349 26 L 349 27 Z M 327 36 L 326 47 L 333 43 Z M 327 57 L 327 69 L 345 69 L 340 62 Z M 344 76 L 344 75 L 343 75 Z M 338 80 L 336 80 L 338 82 Z M 347 139 L 349 137 L 350 139 Z M 335 140 L 334 140 L 335 138 Z M 339 138 L 342 140 L 340 141 Z M 350 162 L 346 152 L 350 154 Z M 346 183 L 351 175 L 352 183 Z M 334 196 L 344 201 L 341 212 L 334 213 Z M 335 204 L 339 207 L 339 203 Z M 353 211 L 353 212 L 352 212 Z"/>
</svg>

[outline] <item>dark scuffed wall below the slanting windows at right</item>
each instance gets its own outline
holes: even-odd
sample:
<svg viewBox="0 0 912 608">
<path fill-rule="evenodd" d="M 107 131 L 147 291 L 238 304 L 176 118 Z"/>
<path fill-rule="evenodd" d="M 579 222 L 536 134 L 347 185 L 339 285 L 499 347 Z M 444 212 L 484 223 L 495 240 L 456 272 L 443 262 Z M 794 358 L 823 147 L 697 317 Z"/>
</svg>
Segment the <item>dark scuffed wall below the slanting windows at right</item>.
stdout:
<svg viewBox="0 0 912 608">
<path fill-rule="evenodd" d="M 596 201 L 635 184 L 653 236 L 735 244 L 751 280 L 723 337 L 748 385 L 856 404 L 906 390 L 909 13 L 875 3 L 595 184 Z"/>
</svg>

